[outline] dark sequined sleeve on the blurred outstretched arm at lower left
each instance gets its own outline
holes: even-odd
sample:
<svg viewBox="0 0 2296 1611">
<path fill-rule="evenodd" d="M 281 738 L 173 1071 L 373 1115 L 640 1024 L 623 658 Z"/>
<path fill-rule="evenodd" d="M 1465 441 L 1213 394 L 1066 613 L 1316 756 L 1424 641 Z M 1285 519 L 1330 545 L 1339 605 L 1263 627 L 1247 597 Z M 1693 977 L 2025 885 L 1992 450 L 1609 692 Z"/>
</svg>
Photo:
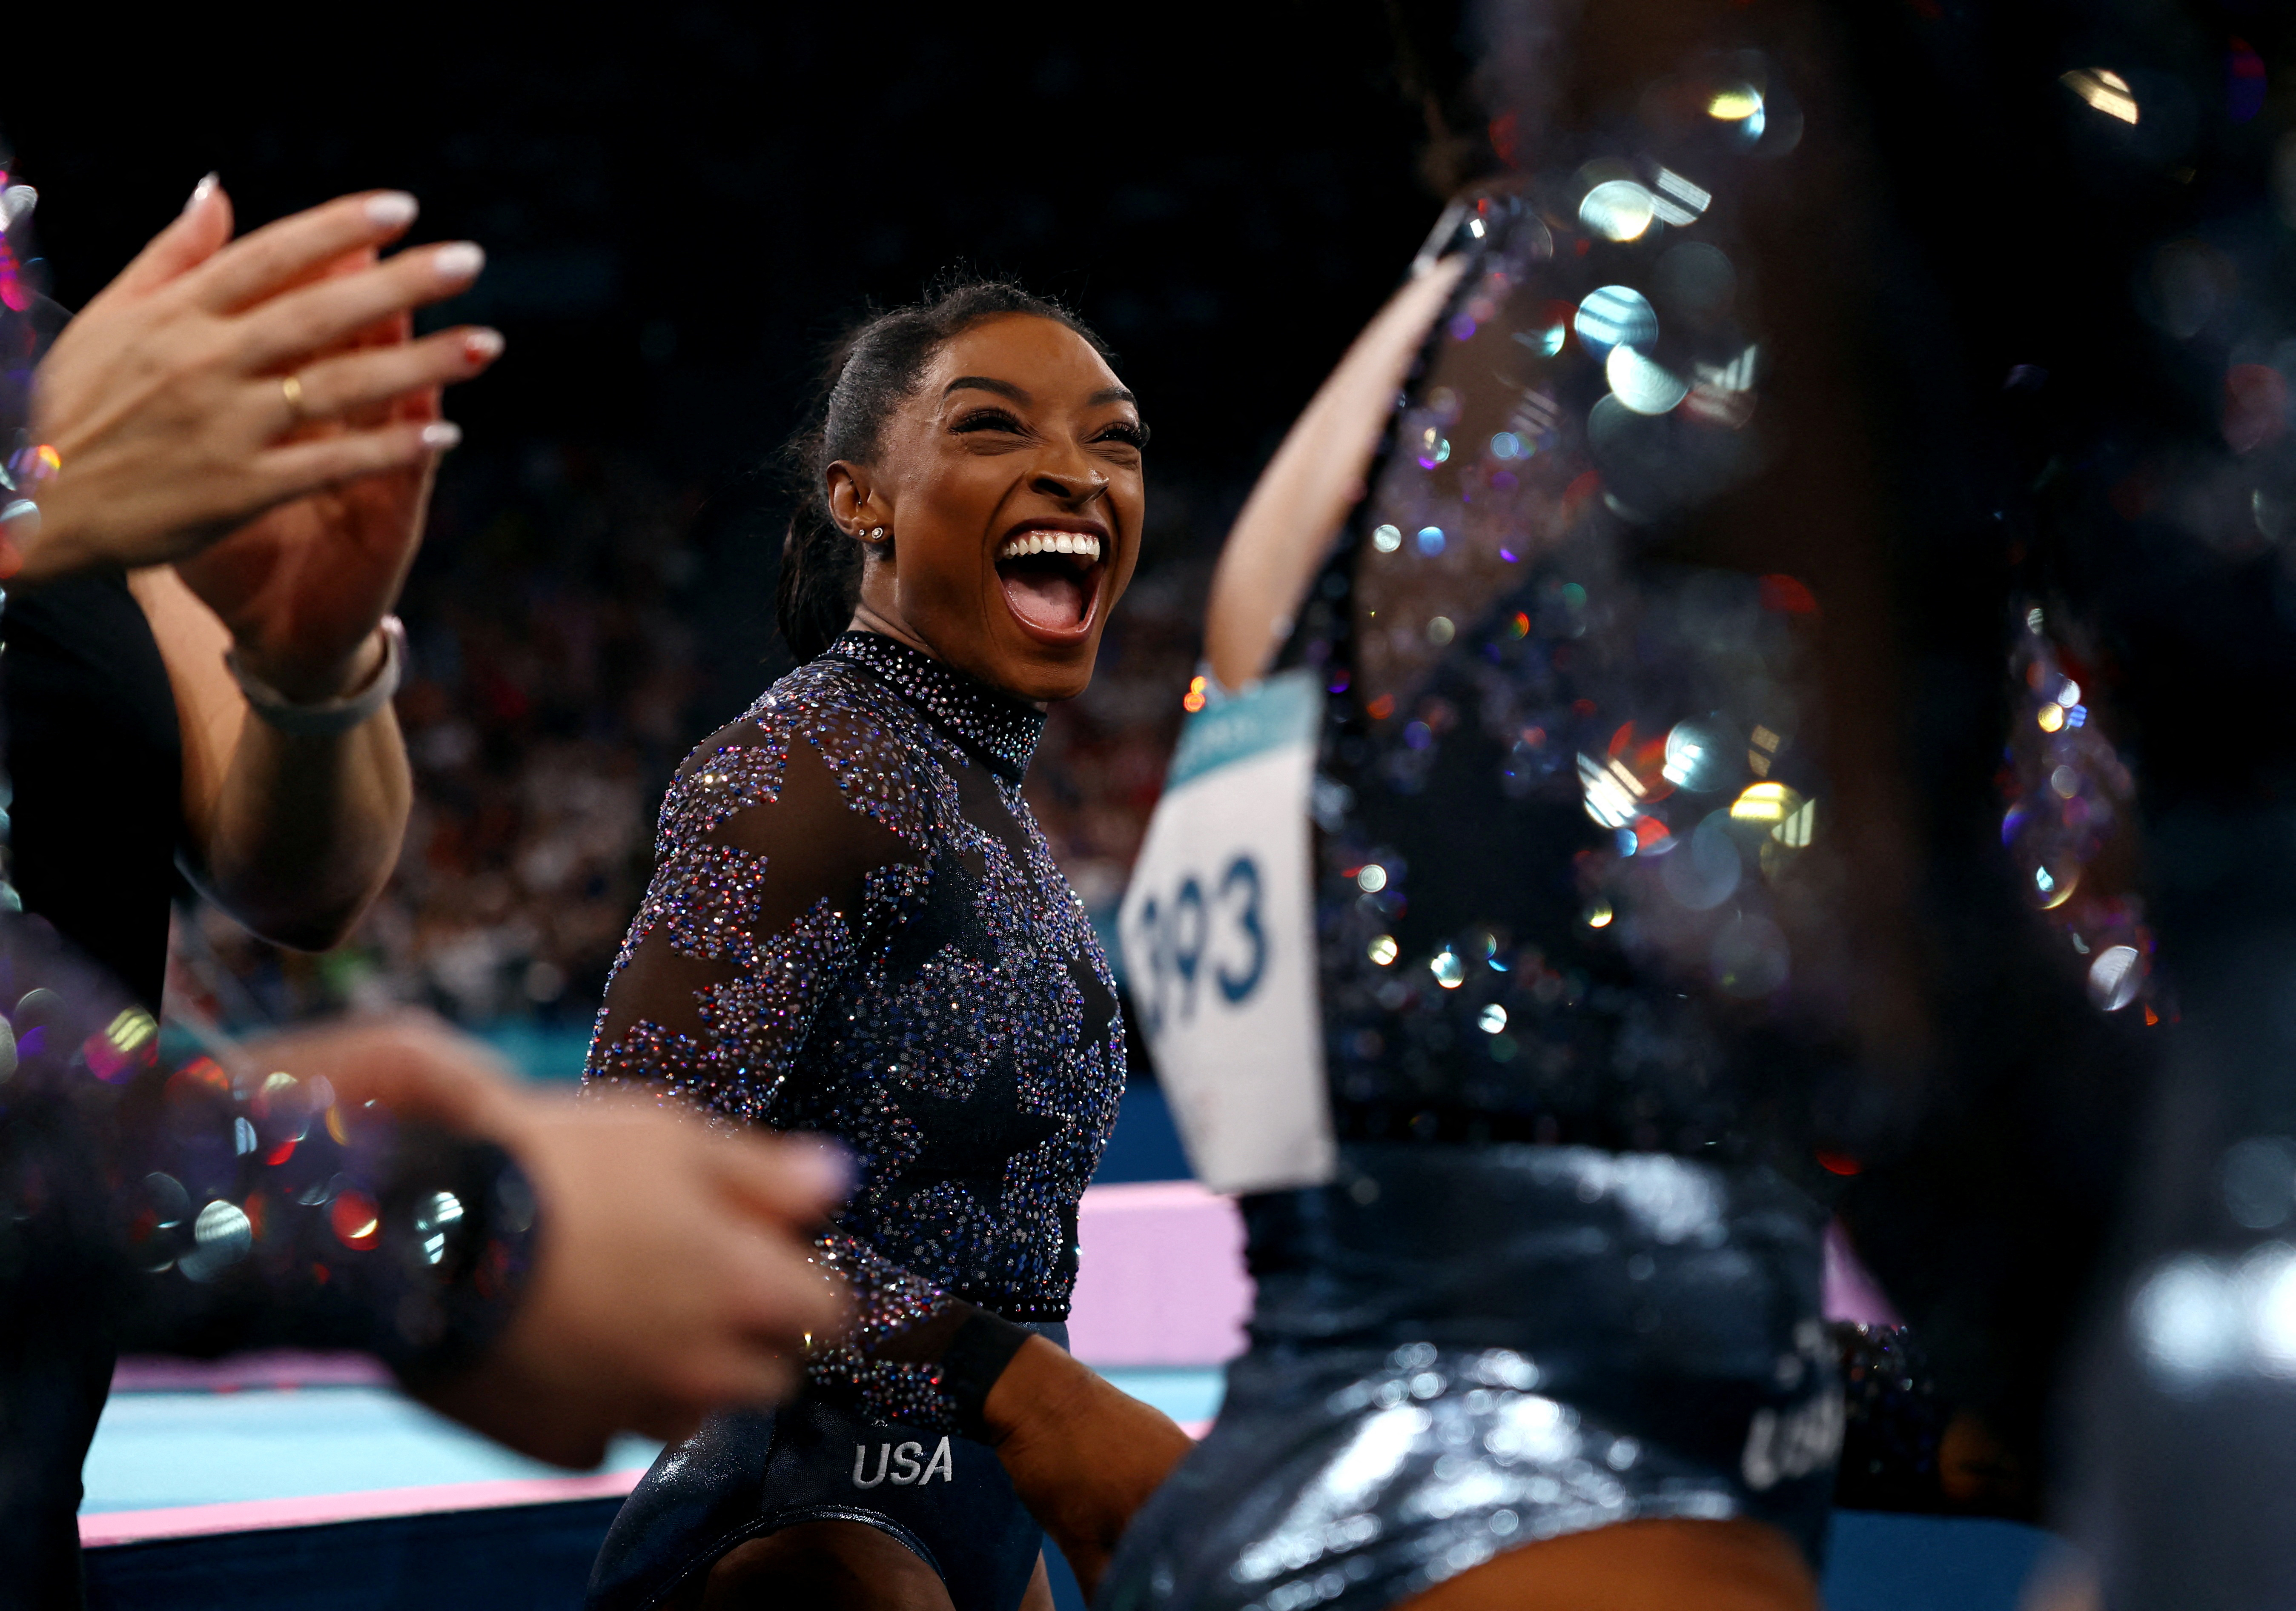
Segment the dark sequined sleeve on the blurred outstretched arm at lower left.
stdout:
<svg viewBox="0 0 2296 1611">
<path fill-rule="evenodd" d="M 39 918 L 0 918 L 0 1313 L 119 1347 L 349 1347 L 420 1386 L 505 1324 L 535 1203 L 491 1143 L 324 1079 L 168 1056 Z"/>
</svg>

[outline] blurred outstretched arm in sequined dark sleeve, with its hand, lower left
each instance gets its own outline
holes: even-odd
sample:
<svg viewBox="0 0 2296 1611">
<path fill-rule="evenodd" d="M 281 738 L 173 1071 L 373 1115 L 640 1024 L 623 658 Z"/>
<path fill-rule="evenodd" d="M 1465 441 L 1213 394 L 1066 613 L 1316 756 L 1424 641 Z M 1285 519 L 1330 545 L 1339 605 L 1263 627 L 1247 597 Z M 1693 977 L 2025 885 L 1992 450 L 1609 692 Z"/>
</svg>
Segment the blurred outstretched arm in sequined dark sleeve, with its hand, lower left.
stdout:
<svg viewBox="0 0 2296 1611">
<path fill-rule="evenodd" d="M 404 1021 L 163 1046 L 44 923 L 0 916 L 0 1310 L 124 1347 L 354 1347 L 544 1460 L 682 1437 L 792 1384 L 840 1294 L 799 1251 L 808 1143 L 519 1090 Z"/>
</svg>

